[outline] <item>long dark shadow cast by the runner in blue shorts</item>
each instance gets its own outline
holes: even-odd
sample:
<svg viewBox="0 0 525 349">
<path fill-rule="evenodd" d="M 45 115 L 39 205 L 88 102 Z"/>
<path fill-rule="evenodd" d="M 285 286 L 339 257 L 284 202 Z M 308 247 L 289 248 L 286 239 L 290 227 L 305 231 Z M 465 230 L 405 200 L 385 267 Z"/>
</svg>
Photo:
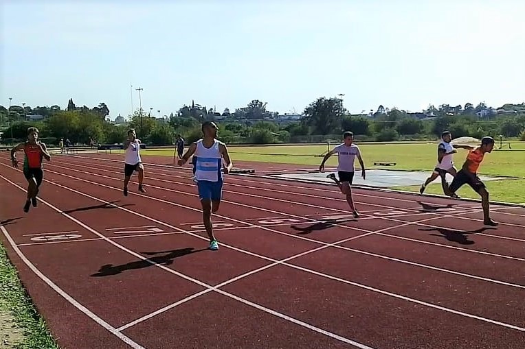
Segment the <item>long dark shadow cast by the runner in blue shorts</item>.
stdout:
<svg viewBox="0 0 525 349">
<path fill-rule="evenodd" d="M 153 262 L 159 265 L 171 265 L 173 264 L 173 260 L 175 258 L 179 258 L 181 256 L 186 256 L 186 254 L 192 254 L 195 252 L 201 252 L 205 250 L 208 250 L 208 249 L 203 248 L 201 250 L 194 250 L 194 248 L 180 248 L 179 250 L 172 250 L 172 251 L 142 252 L 142 254 L 145 254 L 146 256 L 154 256 L 155 254 L 164 253 L 164 255 L 162 256 L 151 257 L 151 258 L 148 258 L 148 260 L 150 262 Z M 130 262 L 130 263 L 122 264 L 122 265 L 106 264 L 106 265 L 102 265 L 102 267 L 98 269 L 98 272 L 96 274 L 92 274 L 91 276 L 95 276 L 95 277 L 111 276 L 111 275 L 120 274 L 126 270 L 153 267 L 153 264 L 150 262 L 135 261 L 135 262 Z"/>
</svg>

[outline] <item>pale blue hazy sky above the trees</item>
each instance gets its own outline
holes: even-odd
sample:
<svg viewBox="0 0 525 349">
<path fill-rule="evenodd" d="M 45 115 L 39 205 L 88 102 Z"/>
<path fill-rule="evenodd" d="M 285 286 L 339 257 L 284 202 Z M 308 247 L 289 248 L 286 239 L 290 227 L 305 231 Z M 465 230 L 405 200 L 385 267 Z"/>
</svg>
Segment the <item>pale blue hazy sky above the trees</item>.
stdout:
<svg viewBox="0 0 525 349">
<path fill-rule="evenodd" d="M 525 101 L 525 1 L 0 1 L 0 105 L 302 112 Z M 131 87 L 133 85 L 133 87 Z"/>
</svg>

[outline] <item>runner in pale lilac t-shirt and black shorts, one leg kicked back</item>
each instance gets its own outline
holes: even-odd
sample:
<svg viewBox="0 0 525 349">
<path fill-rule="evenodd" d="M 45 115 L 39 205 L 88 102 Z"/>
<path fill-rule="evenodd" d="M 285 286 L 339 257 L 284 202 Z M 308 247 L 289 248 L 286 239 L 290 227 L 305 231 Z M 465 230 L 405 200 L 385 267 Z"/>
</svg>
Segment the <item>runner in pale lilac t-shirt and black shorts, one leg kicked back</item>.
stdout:
<svg viewBox="0 0 525 349">
<path fill-rule="evenodd" d="M 320 171 L 323 171 L 324 169 L 324 163 L 326 163 L 326 160 L 330 158 L 333 154 L 337 153 L 337 175 L 339 176 L 339 180 L 335 178 L 335 174 L 331 173 L 326 178 L 330 178 L 339 186 L 339 190 L 346 195 L 346 202 L 348 202 L 348 206 L 350 206 L 350 210 L 352 210 L 354 217 L 359 217 L 359 213 L 355 209 L 354 200 L 352 197 L 352 182 L 354 179 L 354 161 L 355 157 L 357 156 L 357 160 L 359 160 L 359 164 L 361 165 L 361 176 L 363 179 L 366 178 L 365 173 L 365 165 L 363 163 L 363 158 L 361 158 L 361 151 L 359 150 L 359 147 L 353 143 L 354 141 L 354 134 L 353 132 L 347 131 L 343 134 L 343 143 L 337 145 L 337 147 L 333 148 L 328 154 L 326 154 L 323 158 L 323 161 L 319 167 Z"/>
</svg>

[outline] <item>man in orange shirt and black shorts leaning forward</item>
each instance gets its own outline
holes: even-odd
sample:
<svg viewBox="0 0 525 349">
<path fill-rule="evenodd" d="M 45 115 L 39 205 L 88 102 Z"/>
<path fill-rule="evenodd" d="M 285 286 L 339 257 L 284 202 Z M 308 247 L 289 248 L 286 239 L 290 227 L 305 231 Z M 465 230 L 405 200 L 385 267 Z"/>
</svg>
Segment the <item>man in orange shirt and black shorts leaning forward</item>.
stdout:
<svg viewBox="0 0 525 349">
<path fill-rule="evenodd" d="M 463 167 L 458 171 L 449 186 L 451 193 L 455 193 L 463 184 L 469 184 L 481 196 L 481 206 L 483 208 L 483 223 L 487 226 L 497 226 L 498 223 L 493 221 L 489 214 L 489 191 L 478 177 L 478 169 L 483 161 L 485 154 L 492 152 L 494 139 L 492 137 L 483 137 L 480 147 L 470 150 L 467 154 L 467 160 Z"/>
</svg>

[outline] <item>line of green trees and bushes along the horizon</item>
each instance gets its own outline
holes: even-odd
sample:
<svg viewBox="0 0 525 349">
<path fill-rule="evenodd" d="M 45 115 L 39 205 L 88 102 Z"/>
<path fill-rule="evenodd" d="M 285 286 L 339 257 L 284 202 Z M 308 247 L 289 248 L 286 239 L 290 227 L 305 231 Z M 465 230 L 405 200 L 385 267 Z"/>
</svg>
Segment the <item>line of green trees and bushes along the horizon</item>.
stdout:
<svg viewBox="0 0 525 349">
<path fill-rule="evenodd" d="M 42 121 L 23 121 L 19 118 L 10 122 L 10 126 L 3 130 L 1 142 L 11 144 L 21 141 L 26 137 L 27 128 L 36 126 L 41 131 L 41 137 L 50 145 L 57 145 L 60 139 L 69 139 L 79 145 L 89 144 L 91 139 L 101 144 L 122 143 L 129 128 L 135 128 L 138 136 L 148 145 L 172 145 L 176 134 L 181 134 L 187 143 L 199 139 L 200 125 L 206 120 L 219 124 L 219 139 L 227 143 L 335 141 L 345 130 L 353 131 L 361 141 L 433 140 L 445 129 L 451 131 L 454 137 L 497 137 L 501 134 L 506 139 L 521 137 L 525 141 L 525 104 L 506 104 L 502 107 L 505 113 L 489 110 L 482 116 L 476 113 L 487 110 L 484 104 L 476 107 L 466 104 L 465 108 L 442 104 L 439 108 L 429 106 L 422 113 L 397 108 L 387 110 L 380 106 L 377 112 L 368 115 L 350 115 L 342 99 L 322 97 L 306 106 L 300 120 L 285 122 L 276 113 L 268 112 L 265 106 L 265 103 L 254 100 L 234 113 L 219 115 L 212 109 L 204 110 L 192 103 L 191 108 L 185 106 L 166 118 L 135 110 L 127 123 L 115 124 L 107 119 L 109 108 L 106 104 L 79 108 L 70 99 L 67 110 L 61 110 L 58 106 L 37 107 L 45 108 L 45 119 Z M 30 107 L 25 108 L 23 112 Z M 4 112 L 3 109 L 0 108 L 0 113 Z M 37 112 L 36 108 L 32 112 Z M 3 117 L 6 117 L 5 112 Z"/>
</svg>

